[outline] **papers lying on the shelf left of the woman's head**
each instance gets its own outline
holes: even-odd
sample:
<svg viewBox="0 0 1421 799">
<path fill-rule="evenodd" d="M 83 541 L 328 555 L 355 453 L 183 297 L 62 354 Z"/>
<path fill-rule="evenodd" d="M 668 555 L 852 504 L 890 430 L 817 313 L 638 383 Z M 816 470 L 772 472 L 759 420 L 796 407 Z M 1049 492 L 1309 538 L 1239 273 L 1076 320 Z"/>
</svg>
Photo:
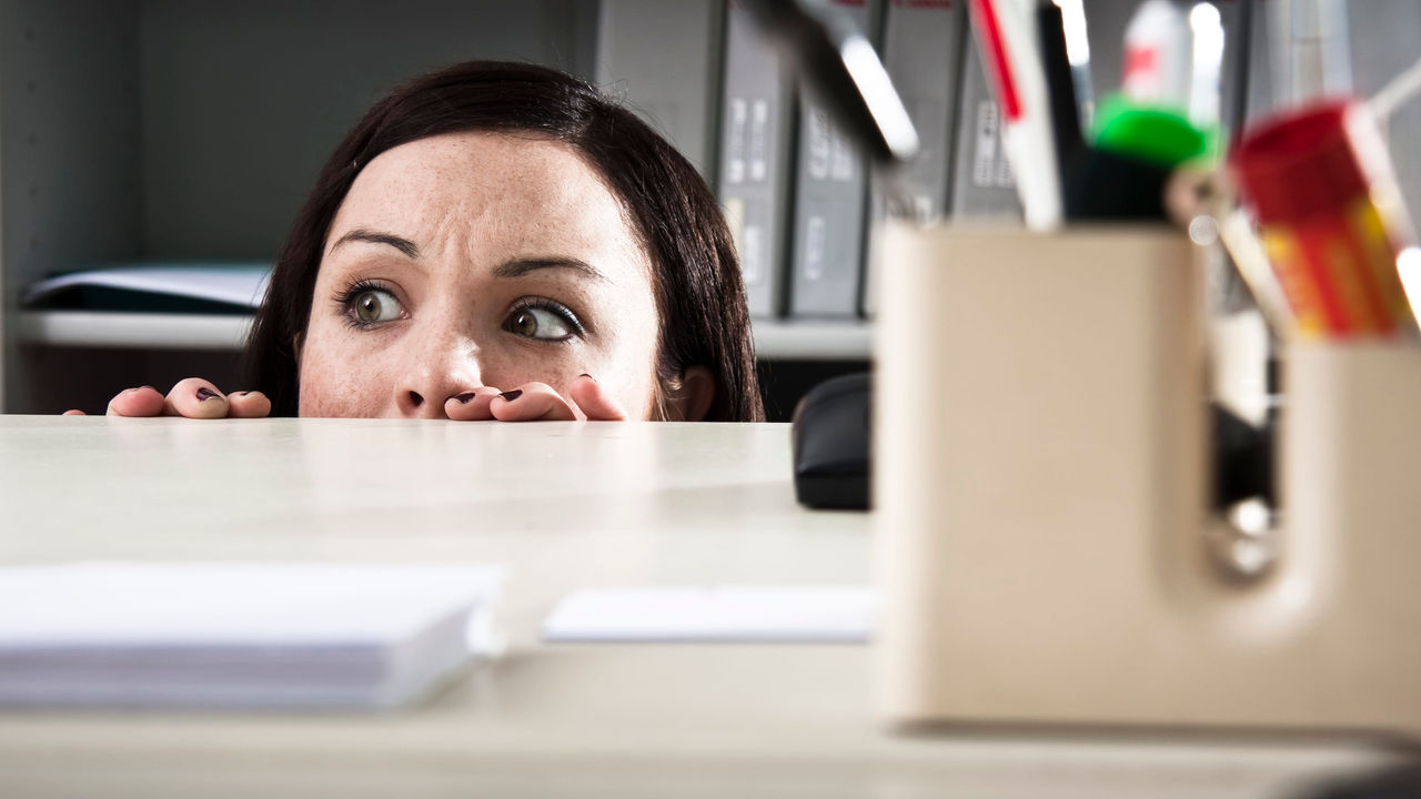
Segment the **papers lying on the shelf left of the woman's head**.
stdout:
<svg viewBox="0 0 1421 799">
<path fill-rule="evenodd" d="M 77 286 L 98 286 L 256 309 L 270 277 L 271 267 L 264 264 L 94 269 L 40 280 L 24 290 L 20 304 L 30 306 Z"/>
</svg>

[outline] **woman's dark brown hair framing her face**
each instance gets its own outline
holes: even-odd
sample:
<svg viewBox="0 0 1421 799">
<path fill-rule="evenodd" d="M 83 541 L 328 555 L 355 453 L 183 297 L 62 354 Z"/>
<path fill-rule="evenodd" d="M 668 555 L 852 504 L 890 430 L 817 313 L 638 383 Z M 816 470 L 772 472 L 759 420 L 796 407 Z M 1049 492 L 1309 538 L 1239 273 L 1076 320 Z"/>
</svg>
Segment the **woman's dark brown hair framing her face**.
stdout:
<svg viewBox="0 0 1421 799">
<path fill-rule="evenodd" d="M 337 209 L 360 171 L 402 144 L 463 131 L 546 136 L 573 146 L 621 200 L 652 262 L 662 394 L 685 370 L 715 375 L 709 421 L 762 421 L 755 345 L 735 245 L 695 168 L 635 114 L 587 82 L 530 64 L 469 61 L 381 100 L 335 148 L 281 249 L 247 340 L 247 385 L 294 417 L 294 341 L 308 323 L 315 273 Z"/>
</svg>

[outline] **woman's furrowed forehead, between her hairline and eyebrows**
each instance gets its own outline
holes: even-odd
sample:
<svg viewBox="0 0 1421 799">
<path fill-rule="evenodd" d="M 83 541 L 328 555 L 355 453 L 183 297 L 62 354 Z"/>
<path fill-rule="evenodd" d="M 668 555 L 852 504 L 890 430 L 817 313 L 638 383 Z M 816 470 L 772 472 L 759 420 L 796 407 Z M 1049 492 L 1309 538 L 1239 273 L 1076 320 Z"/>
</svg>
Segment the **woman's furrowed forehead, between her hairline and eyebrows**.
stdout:
<svg viewBox="0 0 1421 799">
<path fill-rule="evenodd" d="M 331 226 L 381 229 L 422 247 L 625 250 L 644 259 L 622 205 L 567 144 L 460 132 L 371 161 Z M 327 242 L 327 249 L 330 242 Z"/>
</svg>

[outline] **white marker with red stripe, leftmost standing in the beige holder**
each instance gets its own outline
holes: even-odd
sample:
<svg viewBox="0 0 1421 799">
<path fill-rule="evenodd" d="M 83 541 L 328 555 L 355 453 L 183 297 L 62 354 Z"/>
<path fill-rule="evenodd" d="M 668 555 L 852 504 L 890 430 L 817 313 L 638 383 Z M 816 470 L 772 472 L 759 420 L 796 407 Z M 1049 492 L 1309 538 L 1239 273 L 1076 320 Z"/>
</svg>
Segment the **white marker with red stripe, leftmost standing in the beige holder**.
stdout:
<svg viewBox="0 0 1421 799">
<path fill-rule="evenodd" d="M 1052 135 L 1046 73 L 1027 0 L 969 0 L 982 65 L 1005 121 L 1002 144 L 1022 198 L 1026 226 L 1061 225 L 1061 182 Z"/>
</svg>

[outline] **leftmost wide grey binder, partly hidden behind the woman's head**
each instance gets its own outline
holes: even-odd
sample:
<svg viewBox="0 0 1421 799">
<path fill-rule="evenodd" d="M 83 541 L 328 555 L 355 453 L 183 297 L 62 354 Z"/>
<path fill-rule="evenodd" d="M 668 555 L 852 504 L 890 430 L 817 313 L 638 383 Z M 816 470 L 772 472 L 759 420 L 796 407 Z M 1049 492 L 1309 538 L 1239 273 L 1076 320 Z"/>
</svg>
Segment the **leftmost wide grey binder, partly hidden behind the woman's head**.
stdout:
<svg viewBox="0 0 1421 799">
<path fill-rule="evenodd" d="M 603 0 L 597 20 L 597 84 L 622 100 L 712 178 L 718 0 Z"/>
</svg>

